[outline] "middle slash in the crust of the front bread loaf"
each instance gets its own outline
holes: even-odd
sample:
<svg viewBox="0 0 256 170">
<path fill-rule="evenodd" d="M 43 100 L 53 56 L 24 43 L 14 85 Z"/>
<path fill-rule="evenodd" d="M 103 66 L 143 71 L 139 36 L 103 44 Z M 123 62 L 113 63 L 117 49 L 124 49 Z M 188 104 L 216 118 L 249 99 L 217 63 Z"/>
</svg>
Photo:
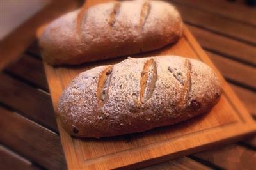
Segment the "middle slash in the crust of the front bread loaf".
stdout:
<svg viewBox="0 0 256 170">
<path fill-rule="evenodd" d="M 140 102 L 147 101 L 153 94 L 157 81 L 157 68 L 154 59 L 149 59 L 143 67 L 140 79 Z"/>
</svg>

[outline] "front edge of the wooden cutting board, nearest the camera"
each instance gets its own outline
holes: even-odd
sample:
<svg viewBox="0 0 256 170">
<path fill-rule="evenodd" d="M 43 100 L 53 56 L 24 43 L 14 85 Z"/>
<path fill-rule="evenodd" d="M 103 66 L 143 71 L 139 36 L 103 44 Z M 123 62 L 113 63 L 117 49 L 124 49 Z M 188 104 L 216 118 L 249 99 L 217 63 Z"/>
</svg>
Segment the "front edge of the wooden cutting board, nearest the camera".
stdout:
<svg viewBox="0 0 256 170">
<path fill-rule="evenodd" d="M 60 123 L 60 122 L 59 122 Z M 238 125 L 237 125 L 238 124 Z M 61 125 L 60 125 L 61 126 Z M 170 159 L 174 159 L 174 158 L 178 158 L 178 157 L 182 157 L 182 156 L 186 156 L 186 155 L 190 155 L 193 153 L 198 153 L 200 151 L 204 151 L 207 148 L 212 148 L 212 147 L 216 147 L 219 144 L 228 144 L 228 143 L 234 143 L 235 141 L 238 141 L 239 139 L 243 139 L 243 137 L 246 137 L 248 135 L 252 135 L 256 133 L 256 125 L 254 123 L 252 123 L 251 127 L 248 127 L 248 124 L 242 123 L 241 121 L 237 121 L 236 123 L 233 123 L 232 125 L 230 125 L 230 127 L 225 128 L 226 125 L 223 125 L 224 128 L 222 126 L 218 127 L 218 130 L 216 130 L 216 132 L 209 132 L 207 135 L 215 135 L 218 134 L 221 130 L 236 130 L 236 132 L 230 133 L 229 135 L 225 134 L 225 137 L 220 138 L 220 136 L 216 137 L 219 139 L 211 139 L 212 141 L 204 141 L 202 142 L 202 140 L 204 140 L 205 138 L 205 133 L 204 133 L 204 137 L 200 136 L 200 133 L 196 135 L 193 135 L 193 139 L 191 137 L 175 137 L 176 139 L 174 141 L 170 141 L 170 143 L 166 143 L 166 144 L 156 144 L 156 147 L 151 147 L 151 144 L 148 144 L 148 146 L 143 147 L 143 149 L 141 150 L 134 150 L 134 152 L 132 152 L 131 150 L 128 151 L 122 151 L 120 153 L 114 153 L 111 154 L 110 157 L 109 155 L 104 155 L 103 157 L 99 157 L 99 158 L 93 158 L 91 160 L 81 160 L 80 158 L 78 158 L 79 163 L 82 164 L 77 164 L 75 162 L 72 162 L 72 160 L 69 160 L 70 164 L 69 165 L 73 165 L 71 166 L 69 169 L 77 169 L 77 168 L 84 168 L 84 169 L 93 169 L 93 167 L 95 167 L 95 169 L 98 169 L 102 166 L 105 166 L 108 169 L 115 169 L 115 168 L 132 168 L 132 167 L 136 167 L 136 168 L 141 168 L 141 167 L 145 167 L 145 165 L 150 166 L 150 162 L 154 162 L 152 164 L 159 164 L 161 162 L 164 162 L 166 160 L 170 160 Z M 237 133 L 237 126 L 239 127 L 240 132 Z M 145 158 L 145 159 L 141 159 L 138 158 L 137 161 L 131 161 L 129 162 L 129 157 L 135 157 L 136 154 L 138 154 L 137 152 L 141 153 L 145 150 L 149 150 L 148 147 L 150 147 L 150 152 L 154 152 L 154 150 L 159 150 L 161 148 L 168 148 L 170 147 L 172 150 L 172 146 L 174 146 L 176 143 L 180 143 L 180 141 L 182 141 L 182 143 L 186 143 L 188 141 L 191 142 L 191 140 L 199 140 L 202 143 L 198 143 L 197 146 L 195 146 L 195 144 L 193 144 L 193 146 L 186 148 L 186 150 L 175 150 L 175 151 L 170 151 L 170 150 L 166 150 L 165 153 L 163 153 L 162 155 L 156 155 L 156 157 L 151 157 L 151 158 Z M 172 139 L 170 139 L 172 140 Z M 75 156 L 75 155 L 74 155 Z M 116 164 L 111 164 L 109 165 L 108 162 L 113 162 L 114 160 L 116 160 L 117 158 L 122 157 L 123 159 L 126 158 L 127 160 L 127 164 L 124 164 L 124 162 L 122 162 L 122 164 L 118 164 L 118 162 L 116 162 Z M 79 165 L 79 166 L 74 166 L 74 165 Z"/>
</svg>

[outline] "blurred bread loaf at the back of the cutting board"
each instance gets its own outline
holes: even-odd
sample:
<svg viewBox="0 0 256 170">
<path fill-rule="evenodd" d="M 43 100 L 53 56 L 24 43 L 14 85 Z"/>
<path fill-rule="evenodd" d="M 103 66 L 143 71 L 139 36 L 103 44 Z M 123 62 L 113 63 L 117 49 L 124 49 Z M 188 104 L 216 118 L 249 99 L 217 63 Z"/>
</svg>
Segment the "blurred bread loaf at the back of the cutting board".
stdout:
<svg viewBox="0 0 256 170">
<path fill-rule="evenodd" d="M 177 10 L 163 1 L 99 4 L 63 15 L 40 38 L 51 65 L 79 64 L 159 49 L 182 35 Z"/>
</svg>

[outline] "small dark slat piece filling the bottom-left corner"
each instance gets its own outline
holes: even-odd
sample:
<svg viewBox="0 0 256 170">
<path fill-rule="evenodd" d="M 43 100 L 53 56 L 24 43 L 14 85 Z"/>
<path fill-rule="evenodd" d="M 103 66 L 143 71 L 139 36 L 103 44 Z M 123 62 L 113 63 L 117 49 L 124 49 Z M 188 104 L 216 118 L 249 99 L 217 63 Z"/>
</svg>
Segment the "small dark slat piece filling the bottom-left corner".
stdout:
<svg viewBox="0 0 256 170">
<path fill-rule="evenodd" d="M 0 145 L 0 169 L 8 169 L 8 170 L 16 170 L 16 169 L 38 169 L 37 167 L 33 166 L 31 162 L 28 160 L 24 160 L 24 158 L 20 158 L 12 151 L 4 148 Z"/>
</svg>

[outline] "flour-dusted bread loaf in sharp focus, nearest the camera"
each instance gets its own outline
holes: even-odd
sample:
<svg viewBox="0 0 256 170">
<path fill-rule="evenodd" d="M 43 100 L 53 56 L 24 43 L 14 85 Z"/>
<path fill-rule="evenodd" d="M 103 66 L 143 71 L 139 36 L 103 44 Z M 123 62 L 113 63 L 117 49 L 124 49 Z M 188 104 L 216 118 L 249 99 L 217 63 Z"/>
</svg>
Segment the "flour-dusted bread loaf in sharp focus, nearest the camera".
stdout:
<svg viewBox="0 0 256 170">
<path fill-rule="evenodd" d="M 214 72 L 179 56 L 128 58 L 79 74 L 58 115 L 77 137 L 109 137 L 171 125 L 209 111 L 221 94 Z"/>
</svg>

